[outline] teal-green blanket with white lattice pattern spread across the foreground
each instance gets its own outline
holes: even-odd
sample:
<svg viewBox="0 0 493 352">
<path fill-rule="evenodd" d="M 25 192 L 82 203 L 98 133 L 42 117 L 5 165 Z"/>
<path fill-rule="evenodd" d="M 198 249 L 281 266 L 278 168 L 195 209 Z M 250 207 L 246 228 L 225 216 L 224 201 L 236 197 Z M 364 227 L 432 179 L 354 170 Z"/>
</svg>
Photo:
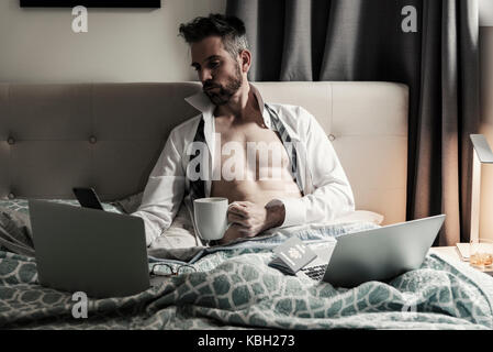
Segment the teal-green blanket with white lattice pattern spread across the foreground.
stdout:
<svg viewBox="0 0 493 352">
<path fill-rule="evenodd" d="M 77 300 L 37 284 L 32 257 L 0 251 L 1 329 L 493 329 L 493 277 L 445 257 L 388 283 L 335 288 L 267 266 L 272 252 L 228 248 L 125 298 Z M 173 262 L 168 262 L 178 265 Z M 80 315 L 79 315 L 80 316 Z"/>
</svg>

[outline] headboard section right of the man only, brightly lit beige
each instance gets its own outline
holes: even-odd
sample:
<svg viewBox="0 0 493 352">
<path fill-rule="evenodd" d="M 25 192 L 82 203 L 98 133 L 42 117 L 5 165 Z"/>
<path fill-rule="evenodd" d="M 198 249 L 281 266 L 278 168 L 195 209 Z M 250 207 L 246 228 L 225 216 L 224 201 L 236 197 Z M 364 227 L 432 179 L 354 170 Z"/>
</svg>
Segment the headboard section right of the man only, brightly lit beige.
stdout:
<svg viewBox="0 0 493 352">
<path fill-rule="evenodd" d="M 408 89 L 391 82 L 257 82 L 267 102 L 299 105 L 327 132 L 356 208 L 405 221 Z"/>
</svg>

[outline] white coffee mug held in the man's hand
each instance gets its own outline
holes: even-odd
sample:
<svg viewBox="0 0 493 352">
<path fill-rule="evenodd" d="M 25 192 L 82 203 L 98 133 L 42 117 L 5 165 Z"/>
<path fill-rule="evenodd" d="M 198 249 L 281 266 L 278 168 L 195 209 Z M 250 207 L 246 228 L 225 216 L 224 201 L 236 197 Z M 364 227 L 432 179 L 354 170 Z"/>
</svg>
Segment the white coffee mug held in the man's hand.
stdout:
<svg viewBox="0 0 493 352">
<path fill-rule="evenodd" d="M 210 197 L 193 200 L 193 216 L 199 237 L 205 241 L 221 240 L 227 222 L 227 198 Z"/>
</svg>

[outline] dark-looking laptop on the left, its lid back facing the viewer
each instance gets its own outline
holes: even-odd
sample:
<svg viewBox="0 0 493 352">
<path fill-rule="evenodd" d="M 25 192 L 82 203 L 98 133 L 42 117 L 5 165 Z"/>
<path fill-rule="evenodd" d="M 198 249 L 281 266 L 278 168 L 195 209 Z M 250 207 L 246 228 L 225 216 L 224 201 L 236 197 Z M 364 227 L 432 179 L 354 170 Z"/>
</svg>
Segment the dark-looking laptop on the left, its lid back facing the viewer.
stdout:
<svg viewBox="0 0 493 352">
<path fill-rule="evenodd" d="M 29 200 L 43 286 L 123 297 L 150 287 L 144 221 L 97 209 Z"/>
</svg>

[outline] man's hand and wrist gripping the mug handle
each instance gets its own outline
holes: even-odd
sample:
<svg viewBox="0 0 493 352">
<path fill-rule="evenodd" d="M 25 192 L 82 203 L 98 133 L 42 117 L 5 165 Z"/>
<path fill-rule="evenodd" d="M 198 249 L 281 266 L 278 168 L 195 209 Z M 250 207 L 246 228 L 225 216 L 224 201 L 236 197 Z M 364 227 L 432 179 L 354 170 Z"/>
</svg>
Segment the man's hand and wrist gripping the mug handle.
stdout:
<svg viewBox="0 0 493 352">
<path fill-rule="evenodd" d="M 236 232 L 238 237 L 253 238 L 280 226 L 284 221 L 284 206 L 265 208 L 251 201 L 235 201 L 229 205 L 227 220 L 234 223 L 231 232 Z"/>
</svg>

